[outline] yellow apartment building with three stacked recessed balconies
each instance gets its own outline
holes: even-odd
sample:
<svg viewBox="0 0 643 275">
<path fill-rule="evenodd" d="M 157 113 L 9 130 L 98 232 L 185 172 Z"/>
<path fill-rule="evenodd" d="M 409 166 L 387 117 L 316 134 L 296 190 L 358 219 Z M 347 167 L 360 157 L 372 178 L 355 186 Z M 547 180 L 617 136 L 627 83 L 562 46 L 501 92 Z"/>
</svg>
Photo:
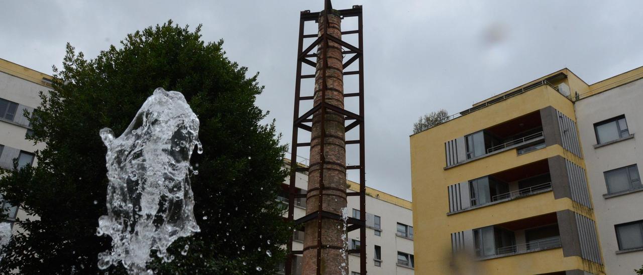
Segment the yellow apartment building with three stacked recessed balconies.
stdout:
<svg viewBox="0 0 643 275">
<path fill-rule="evenodd" d="M 617 274 L 601 251 L 575 103 L 642 75 L 588 85 L 561 69 L 413 134 L 415 274 Z"/>
</svg>

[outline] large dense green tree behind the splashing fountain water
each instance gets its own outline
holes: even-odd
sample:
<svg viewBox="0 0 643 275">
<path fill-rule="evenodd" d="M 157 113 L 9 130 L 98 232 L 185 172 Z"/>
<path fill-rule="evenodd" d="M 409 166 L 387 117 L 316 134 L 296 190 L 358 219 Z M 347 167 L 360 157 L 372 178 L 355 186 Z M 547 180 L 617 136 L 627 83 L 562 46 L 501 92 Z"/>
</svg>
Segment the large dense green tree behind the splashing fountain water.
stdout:
<svg viewBox="0 0 643 275">
<path fill-rule="evenodd" d="M 274 123 L 255 106 L 263 87 L 257 75 L 231 62 L 222 41 L 203 42 L 201 26 L 191 31 L 168 21 L 127 35 L 120 46 L 87 59 L 67 46 L 54 68 L 53 91 L 44 93 L 32 120 L 38 165 L 0 179 L 5 199 L 39 217 L 20 220 L 28 234 L 6 247 L 0 273 L 87 274 L 101 272 L 97 254 L 111 247 L 96 236 L 105 215 L 105 152 L 98 131 L 120 135 L 156 87 L 180 91 L 201 121 L 203 154 L 194 154 L 194 212 L 201 233 L 179 239 L 175 259 L 150 269 L 160 274 L 265 274 L 284 259 L 280 245 L 291 233 L 275 203 L 284 146 Z M 186 255 L 181 251 L 189 245 Z M 269 251 L 269 252 L 268 252 Z M 269 255 L 271 254 L 271 255 Z M 260 270 L 260 271 L 258 271 Z M 112 267 L 110 273 L 123 272 Z"/>
</svg>

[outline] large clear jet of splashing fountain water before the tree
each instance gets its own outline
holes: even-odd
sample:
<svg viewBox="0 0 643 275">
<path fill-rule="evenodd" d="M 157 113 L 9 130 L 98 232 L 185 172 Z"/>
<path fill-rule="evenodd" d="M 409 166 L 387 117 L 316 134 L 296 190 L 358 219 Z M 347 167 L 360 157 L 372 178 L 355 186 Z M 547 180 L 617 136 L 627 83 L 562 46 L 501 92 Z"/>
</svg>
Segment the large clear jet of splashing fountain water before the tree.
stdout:
<svg viewBox="0 0 643 275">
<path fill-rule="evenodd" d="M 98 254 L 98 267 L 122 262 L 130 274 L 146 272 L 150 251 L 164 262 L 167 247 L 199 232 L 190 187 L 190 157 L 201 154 L 199 119 L 183 94 L 158 88 L 145 100 L 125 132 L 114 138 L 100 130 L 107 146 L 107 213 L 97 235 L 112 237 L 113 249 Z"/>
</svg>

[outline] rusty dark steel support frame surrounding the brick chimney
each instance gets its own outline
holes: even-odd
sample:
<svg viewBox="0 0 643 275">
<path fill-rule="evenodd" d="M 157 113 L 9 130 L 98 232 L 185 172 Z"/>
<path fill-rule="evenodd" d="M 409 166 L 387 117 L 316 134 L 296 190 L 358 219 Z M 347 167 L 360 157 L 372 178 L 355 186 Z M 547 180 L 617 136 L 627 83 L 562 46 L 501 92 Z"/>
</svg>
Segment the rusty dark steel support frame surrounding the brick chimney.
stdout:
<svg viewBox="0 0 643 275">
<path fill-rule="evenodd" d="M 290 174 L 290 182 L 289 182 L 289 198 L 288 198 L 288 217 L 287 220 L 289 222 L 294 222 L 297 228 L 303 227 L 306 222 L 313 222 L 316 221 L 318 223 L 318 243 L 316 247 L 313 247 L 312 249 L 317 250 L 317 269 L 316 269 L 316 274 L 320 275 L 321 274 L 321 249 L 326 247 L 323 245 L 323 242 L 321 240 L 321 220 L 324 218 L 328 219 L 334 219 L 334 220 L 342 220 L 342 217 L 340 215 L 337 215 L 335 213 L 327 212 L 324 211 L 321 207 L 321 203 L 323 201 L 323 190 L 324 190 L 324 185 L 323 185 L 323 167 L 324 167 L 324 156 L 323 156 L 323 142 L 321 143 L 321 155 L 320 155 L 320 190 L 318 192 L 319 195 L 319 208 L 318 211 L 311 213 L 309 215 L 306 215 L 305 217 L 298 218 L 297 220 L 294 220 L 294 199 L 296 198 L 302 198 L 305 197 L 305 194 L 298 194 L 296 193 L 295 189 L 295 173 L 296 172 L 304 172 L 307 171 L 308 168 L 305 167 L 300 167 L 299 164 L 297 163 L 296 160 L 296 155 L 297 155 L 297 149 L 298 147 L 303 147 L 303 146 L 310 146 L 310 142 L 303 142 L 300 143 L 298 140 L 298 131 L 299 129 L 302 130 L 307 130 L 311 132 L 312 127 L 311 125 L 307 125 L 306 123 L 311 123 L 312 122 L 312 114 L 314 114 L 317 111 L 321 111 L 321 140 L 324 140 L 325 137 L 325 128 L 323 125 L 324 121 L 324 116 L 325 112 L 327 110 L 331 110 L 334 112 L 338 112 L 340 114 L 343 114 L 345 116 L 345 120 L 348 122 L 350 121 L 349 125 L 345 126 L 345 131 L 349 132 L 350 130 L 354 129 L 355 127 L 359 126 L 359 139 L 357 140 L 350 140 L 346 141 L 346 145 L 358 145 L 359 146 L 359 164 L 358 165 L 351 165 L 351 166 L 346 166 L 347 170 L 359 170 L 359 191 L 351 191 L 347 192 L 347 199 L 350 197 L 359 197 L 359 219 L 357 218 L 348 218 L 347 219 L 347 233 L 350 231 L 354 230 L 359 230 L 359 239 L 360 239 L 360 249 L 359 251 L 357 250 L 349 250 L 347 253 L 354 254 L 358 253 L 359 254 L 359 272 L 362 275 L 367 274 L 367 269 L 366 269 L 366 249 L 367 249 L 367 243 L 366 243 L 366 167 L 365 167 L 365 143 L 364 143 L 364 137 L 365 137 L 365 132 L 364 132 L 364 62 L 363 62 L 363 26 L 362 26 L 362 7 L 361 6 L 353 6 L 350 9 L 346 10 L 338 10 L 340 13 L 341 18 L 345 17 L 358 17 L 358 29 L 357 30 L 349 30 L 349 31 L 341 31 L 342 35 L 358 35 L 358 46 L 351 45 L 343 40 L 337 39 L 336 37 L 332 37 L 331 35 L 328 35 L 328 14 L 332 10 L 332 4 L 330 0 L 325 0 L 324 4 L 324 10 L 325 13 L 321 12 L 310 12 L 309 10 L 305 10 L 301 12 L 300 15 L 300 25 L 299 25 L 299 39 L 298 39 L 298 48 L 297 48 L 297 68 L 296 68 L 296 75 L 295 75 L 295 85 L 294 85 L 294 112 L 293 112 L 293 139 L 291 143 L 291 174 Z M 318 21 L 320 15 L 325 16 L 325 26 L 323 26 L 324 31 L 323 35 L 321 37 L 318 34 L 305 34 L 304 33 L 304 24 L 305 22 L 308 21 Z M 307 38 L 314 38 L 316 37 L 317 39 L 314 40 L 309 46 L 307 46 L 305 49 L 303 48 L 303 43 L 304 39 Z M 302 96 L 301 95 L 301 83 L 302 83 L 302 78 L 314 78 L 315 75 L 302 75 L 302 65 L 307 65 L 307 66 L 312 66 L 316 67 L 316 62 L 309 60 L 309 57 L 317 57 L 316 53 L 311 53 L 312 49 L 314 49 L 316 46 L 322 44 L 327 48 L 328 46 L 328 41 L 332 40 L 332 42 L 336 42 L 340 44 L 343 48 L 343 53 L 346 55 L 353 54 L 352 57 L 348 58 L 343 63 L 343 75 L 358 75 L 359 77 L 359 84 L 358 84 L 358 92 L 357 93 L 344 93 L 344 97 L 358 97 L 359 101 L 359 110 L 358 113 L 350 112 L 347 111 L 343 108 L 337 107 L 335 105 L 332 105 L 331 103 L 325 102 L 325 91 L 326 91 L 326 67 L 327 67 L 327 58 L 325 57 L 326 51 L 321 51 L 322 56 L 320 57 L 323 64 L 321 67 L 320 73 L 322 74 L 322 89 L 321 89 L 321 102 L 318 105 L 315 105 L 312 107 L 310 110 L 306 111 L 303 115 L 300 115 L 300 102 L 303 100 L 314 100 L 314 95 L 310 96 Z M 347 67 L 349 67 L 351 64 L 354 64 L 354 62 L 358 62 L 359 69 L 357 71 L 347 71 Z M 310 191 L 310 190 L 309 190 Z M 289 242 L 287 243 L 287 261 L 285 264 L 285 274 L 286 275 L 291 275 L 292 274 L 292 263 L 293 263 L 293 258 L 296 254 L 303 254 L 303 251 L 293 251 L 293 236 L 289 238 Z"/>
</svg>

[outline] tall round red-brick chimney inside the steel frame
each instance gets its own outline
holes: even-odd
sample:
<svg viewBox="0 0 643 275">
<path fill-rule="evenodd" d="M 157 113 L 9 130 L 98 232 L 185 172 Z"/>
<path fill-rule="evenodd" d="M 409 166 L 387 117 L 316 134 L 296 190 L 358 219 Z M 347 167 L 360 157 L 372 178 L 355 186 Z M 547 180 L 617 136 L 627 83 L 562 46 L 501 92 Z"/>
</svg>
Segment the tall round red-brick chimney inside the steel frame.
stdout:
<svg viewBox="0 0 643 275">
<path fill-rule="evenodd" d="M 329 14 L 328 33 L 341 39 L 340 16 Z M 318 21 L 319 35 L 323 35 L 325 18 L 323 12 Z M 327 59 L 325 102 L 344 108 L 343 96 L 343 64 L 341 46 L 329 40 L 325 48 L 323 42 L 317 48 L 317 65 L 314 87 L 314 104 L 322 101 L 323 88 L 323 51 Z M 341 209 L 346 207 L 346 143 L 344 116 L 327 110 L 323 119 L 325 134 L 321 138 L 321 111 L 312 116 L 311 134 L 311 164 L 308 174 L 308 193 L 306 213 L 314 213 L 319 209 L 320 192 L 320 154 L 323 143 L 325 163 L 323 165 L 322 209 L 341 215 Z M 347 274 L 348 254 L 341 251 L 344 245 L 342 236 L 345 235 L 343 223 L 338 220 L 324 218 L 321 224 L 321 274 Z M 316 274 L 318 244 L 318 222 L 312 220 L 305 224 L 303 251 L 303 274 Z M 309 249 L 307 249 L 309 248 Z"/>
</svg>

